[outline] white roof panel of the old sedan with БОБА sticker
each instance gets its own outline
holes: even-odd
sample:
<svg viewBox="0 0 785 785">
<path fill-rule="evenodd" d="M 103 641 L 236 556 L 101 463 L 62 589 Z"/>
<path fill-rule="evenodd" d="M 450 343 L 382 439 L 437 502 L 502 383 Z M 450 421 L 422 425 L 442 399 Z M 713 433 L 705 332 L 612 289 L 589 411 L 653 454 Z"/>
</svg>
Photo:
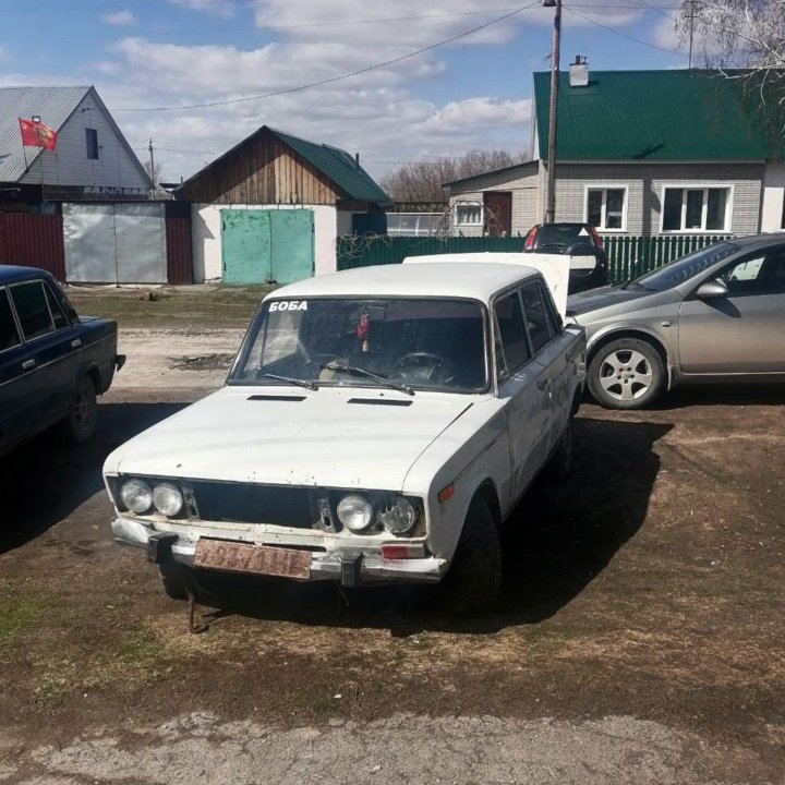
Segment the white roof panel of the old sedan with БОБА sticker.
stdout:
<svg viewBox="0 0 785 785">
<path fill-rule="evenodd" d="M 534 277 L 541 275 L 533 267 L 499 262 L 390 264 L 306 278 L 268 297 L 435 297 L 490 302 L 496 292 Z"/>
</svg>

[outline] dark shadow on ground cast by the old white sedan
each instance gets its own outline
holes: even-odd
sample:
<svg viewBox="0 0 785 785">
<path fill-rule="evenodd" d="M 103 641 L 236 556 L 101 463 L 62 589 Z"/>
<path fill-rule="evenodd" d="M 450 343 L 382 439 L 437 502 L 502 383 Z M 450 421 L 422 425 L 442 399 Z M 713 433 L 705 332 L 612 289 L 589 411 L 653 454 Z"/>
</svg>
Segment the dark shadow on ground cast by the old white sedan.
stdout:
<svg viewBox="0 0 785 785">
<path fill-rule="evenodd" d="M 538 481 L 503 531 L 504 585 L 496 612 L 467 620 L 444 613 L 439 591 L 274 579 L 221 580 L 221 606 L 203 618 L 220 625 L 239 614 L 302 624 L 388 628 L 394 636 L 424 629 L 492 632 L 553 616 L 613 559 L 642 526 L 660 468 L 653 445 L 672 425 L 581 418 L 576 471 L 567 484 Z"/>
</svg>

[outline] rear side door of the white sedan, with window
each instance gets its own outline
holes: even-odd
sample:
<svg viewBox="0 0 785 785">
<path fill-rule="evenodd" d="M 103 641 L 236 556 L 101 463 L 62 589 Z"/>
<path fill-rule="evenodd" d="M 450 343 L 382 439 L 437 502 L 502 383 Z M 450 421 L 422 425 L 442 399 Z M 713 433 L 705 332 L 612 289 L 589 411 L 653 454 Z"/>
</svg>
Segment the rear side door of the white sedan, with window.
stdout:
<svg viewBox="0 0 785 785">
<path fill-rule="evenodd" d="M 565 413 L 569 410 L 566 400 L 569 394 L 569 367 L 564 351 L 560 324 L 550 293 L 541 280 L 533 280 L 521 287 L 521 302 L 526 316 L 529 342 L 534 361 L 542 369 L 538 384 L 543 392 L 545 431 L 547 446 L 545 458 L 556 446 L 565 425 Z M 544 460 L 544 459 L 543 459 Z"/>
</svg>

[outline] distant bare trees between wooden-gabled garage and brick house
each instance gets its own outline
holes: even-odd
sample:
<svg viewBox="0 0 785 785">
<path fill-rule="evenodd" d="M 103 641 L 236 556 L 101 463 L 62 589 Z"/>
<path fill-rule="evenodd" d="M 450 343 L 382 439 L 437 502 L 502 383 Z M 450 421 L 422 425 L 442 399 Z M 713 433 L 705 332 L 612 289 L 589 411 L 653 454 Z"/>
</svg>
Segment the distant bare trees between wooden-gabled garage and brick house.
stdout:
<svg viewBox="0 0 785 785">
<path fill-rule="evenodd" d="M 452 180 L 504 169 L 526 160 L 519 153 L 508 150 L 469 150 L 456 158 L 432 158 L 413 161 L 387 172 L 382 188 L 396 202 L 446 202 L 442 185 Z"/>
</svg>

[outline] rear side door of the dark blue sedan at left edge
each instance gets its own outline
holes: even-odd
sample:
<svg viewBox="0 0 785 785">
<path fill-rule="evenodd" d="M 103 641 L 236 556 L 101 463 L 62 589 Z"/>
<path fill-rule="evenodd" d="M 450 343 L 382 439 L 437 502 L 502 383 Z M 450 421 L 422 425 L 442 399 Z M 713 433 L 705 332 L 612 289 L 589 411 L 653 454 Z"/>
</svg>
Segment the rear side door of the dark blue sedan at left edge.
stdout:
<svg viewBox="0 0 785 785">
<path fill-rule="evenodd" d="M 55 421 L 67 413 L 80 372 L 78 326 L 67 318 L 45 280 L 14 285 L 11 298 L 38 373 L 40 418 Z"/>
</svg>

